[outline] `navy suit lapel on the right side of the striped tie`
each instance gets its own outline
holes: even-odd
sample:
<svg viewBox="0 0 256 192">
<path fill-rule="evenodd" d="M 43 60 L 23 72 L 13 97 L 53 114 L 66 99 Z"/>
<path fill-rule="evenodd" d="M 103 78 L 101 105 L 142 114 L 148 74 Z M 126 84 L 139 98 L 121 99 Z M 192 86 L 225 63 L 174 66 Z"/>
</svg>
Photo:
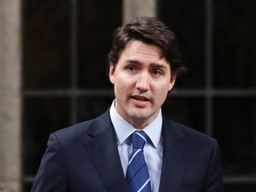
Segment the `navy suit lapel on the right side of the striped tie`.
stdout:
<svg viewBox="0 0 256 192">
<path fill-rule="evenodd" d="M 164 119 L 164 153 L 159 192 L 176 192 L 180 186 L 185 167 L 185 148 L 182 145 L 182 133 Z"/>
</svg>

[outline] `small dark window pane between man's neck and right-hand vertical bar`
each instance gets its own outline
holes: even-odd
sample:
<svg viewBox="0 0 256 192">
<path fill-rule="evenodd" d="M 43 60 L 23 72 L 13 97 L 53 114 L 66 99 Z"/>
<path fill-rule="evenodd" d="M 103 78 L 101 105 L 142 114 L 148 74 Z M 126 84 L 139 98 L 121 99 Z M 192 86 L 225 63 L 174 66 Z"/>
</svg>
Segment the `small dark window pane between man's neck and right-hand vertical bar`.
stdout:
<svg viewBox="0 0 256 192">
<path fill-rule="evenodd" d="M 172 95 L 172 93 L 171 93 Z M 169 97 L 163 106 L 164 115 L 180 124 L 204 132 L 204 99 Z"/>
</svg>

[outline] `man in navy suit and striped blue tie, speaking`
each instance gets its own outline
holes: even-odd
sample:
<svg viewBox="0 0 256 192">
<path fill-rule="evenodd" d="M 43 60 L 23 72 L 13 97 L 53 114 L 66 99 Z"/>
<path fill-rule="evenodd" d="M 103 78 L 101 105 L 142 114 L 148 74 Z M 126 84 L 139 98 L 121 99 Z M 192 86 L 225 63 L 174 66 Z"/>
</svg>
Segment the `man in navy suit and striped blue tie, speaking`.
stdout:
<svg viewBox="0 0 256 192">
<path fill-rule="evenodd" d="M 161 111 L 185 69 L 171 29 L 153 17 L 117 28 L 108 62 L 112 106 L 51 134 L 32 191 L 222 191 L 217 141 Z"/>
</svg>

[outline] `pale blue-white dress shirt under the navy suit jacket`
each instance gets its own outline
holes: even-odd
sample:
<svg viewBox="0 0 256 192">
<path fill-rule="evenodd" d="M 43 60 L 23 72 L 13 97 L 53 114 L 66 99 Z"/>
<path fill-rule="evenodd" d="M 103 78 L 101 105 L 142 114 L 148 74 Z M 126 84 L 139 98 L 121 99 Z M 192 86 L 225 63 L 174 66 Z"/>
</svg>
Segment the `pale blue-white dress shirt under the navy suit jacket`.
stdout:
<svg viewBox="0 0 256 192">
<path fill-rule="evenodd" d="M 129 156 L 132 153 L 132 144 L 129 136 L 136 129 L 132 126 L 132 124 L 125 121 L 122 116 L 117 114 L 115 100 L 110 108 L 110 118 L 116 131 L 117 148 L 124 175 L 126 175 Z M 148 134 L 148 137 L 152 141 L 152 143 L 146 143 L 144 147 L 144 156 L 145 161 L 148 164 L 152 192 L 157 192 L 160 184 L 163 161 L 163 137 L 161 134 L 162 124 L 163 118 L 160 110 L 158 116 L 156 116 L 156 119 L 143 129 L 143 131 Z"/>
</svg>

